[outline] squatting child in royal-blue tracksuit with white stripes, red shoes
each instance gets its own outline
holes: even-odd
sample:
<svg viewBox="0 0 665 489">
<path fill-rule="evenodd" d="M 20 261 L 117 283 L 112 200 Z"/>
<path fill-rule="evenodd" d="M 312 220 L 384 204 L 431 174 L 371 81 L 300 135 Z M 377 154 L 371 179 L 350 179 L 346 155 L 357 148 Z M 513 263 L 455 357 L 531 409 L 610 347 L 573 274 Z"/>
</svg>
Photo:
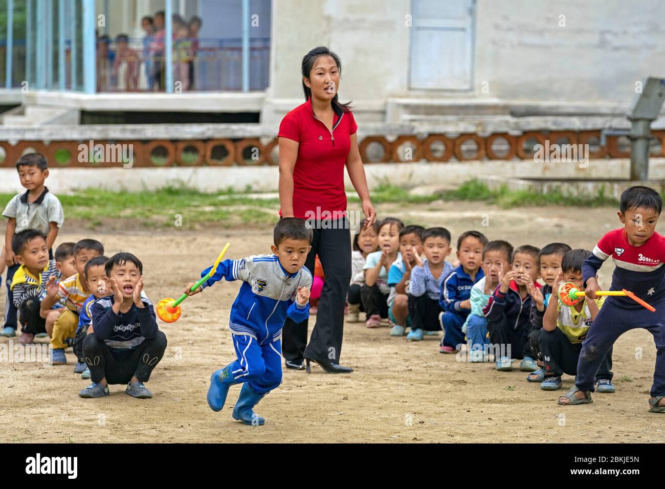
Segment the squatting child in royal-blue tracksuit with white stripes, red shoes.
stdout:
<svg viewBox="0 0 665 489">
<path fill-rule="evenodd" d="M 460 266 L 441 285 L 439 301 L 444 312 L 441 327 L 444 337 L 439 346 L 440 353 L 456 353 L 458 345 L 464 344 L 462 325 L 471 312 L 471 287 L 485 276 L 480 265 L 483 262 L 483 247 L 487 238 L 477 231 L 467 231 L 458 238 L 457 257 Z"/>
</svg>

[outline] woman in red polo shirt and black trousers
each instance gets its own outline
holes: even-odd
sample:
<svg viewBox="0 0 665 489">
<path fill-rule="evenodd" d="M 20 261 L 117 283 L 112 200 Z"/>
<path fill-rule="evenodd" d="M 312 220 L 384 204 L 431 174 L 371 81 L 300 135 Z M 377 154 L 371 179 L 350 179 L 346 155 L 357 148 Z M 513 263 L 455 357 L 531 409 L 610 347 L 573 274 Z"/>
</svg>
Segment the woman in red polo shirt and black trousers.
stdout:
<svg viewBox="0 0 665 489">
<path fill-rule="evenodd" d="M 344 303 L 351 279 L 351 240 L 346 216 L 344 167 L 362 201 L 366 226 L 376 212 L 370 202 L 358 152 L 358 128 L 348 104 L 337 100 L 341 63 L 326 47 L 303 58 L 304 104 L 286 114 L 279 126 L 279 202 L 282 217 L 307 220 L 314 232 L 305 266 L 314 270 L 319 255 L 325 283 L 317 322 L 307 343 L 307 321 L 287 319 L 282 332 L 287 368 L 303 369 L 303 359 L 328 373 L 349 373 L 339 365 Z"/>
</svg>

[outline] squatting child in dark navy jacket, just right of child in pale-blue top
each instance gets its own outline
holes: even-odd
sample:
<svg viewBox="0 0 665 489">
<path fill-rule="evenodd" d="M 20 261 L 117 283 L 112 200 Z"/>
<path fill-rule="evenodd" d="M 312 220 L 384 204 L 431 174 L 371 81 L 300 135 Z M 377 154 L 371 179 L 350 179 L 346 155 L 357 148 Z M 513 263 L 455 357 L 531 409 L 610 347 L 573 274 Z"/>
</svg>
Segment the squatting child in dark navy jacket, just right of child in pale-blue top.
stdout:
<svg viewBox="0 0 665 489">
<path fill-rule="evenodd" d="M 536 369 L 529 345 L 529 331 L 533 302 L 531 293 L 534 288 L 541 288 L 536 281 L 540 276 L 539 251 L 531 245 L 515 248 L 510 271 L 501 273 L 499 287 L 483 308 L 489 343 L 494 349 L 494 356 L 499 357 L 496 362 L 498 371 L 511 371 L 512 357 L 522 359 L 519 365 L 521 371 L 532 372 Z"/>
</svg>

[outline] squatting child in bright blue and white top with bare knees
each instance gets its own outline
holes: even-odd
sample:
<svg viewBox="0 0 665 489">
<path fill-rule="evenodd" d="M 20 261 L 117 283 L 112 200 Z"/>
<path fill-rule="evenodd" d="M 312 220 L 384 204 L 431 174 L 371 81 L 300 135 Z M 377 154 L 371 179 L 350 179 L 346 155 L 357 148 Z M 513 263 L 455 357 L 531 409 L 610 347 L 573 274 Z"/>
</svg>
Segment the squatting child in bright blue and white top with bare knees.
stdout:
<svg viewBox="0 0 665 489">
<path fill-rule="evenodd" d="M 388 319 L 394 323 L 390 336 L 404 336 L 406 327 L 411 325 L 409 317 L 409 297 L 406 294 L 406 285 L 411 279 L 411 270 L 422 254 L 422 226 L 406 226 L 400 230 L 400 256 L 388 271 Z M 416 258 L 416 256 L 418 258 Z"/>
</svg>

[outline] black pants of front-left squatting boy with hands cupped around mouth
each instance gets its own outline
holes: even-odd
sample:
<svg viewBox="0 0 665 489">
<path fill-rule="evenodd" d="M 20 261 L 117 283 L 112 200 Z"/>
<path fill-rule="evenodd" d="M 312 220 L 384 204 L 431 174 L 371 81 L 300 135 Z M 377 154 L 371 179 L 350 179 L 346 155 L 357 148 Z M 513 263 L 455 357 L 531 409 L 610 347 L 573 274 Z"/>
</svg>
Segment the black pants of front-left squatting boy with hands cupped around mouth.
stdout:
<svg viewBox="0 0 665 489">
<path fill-rule="evenodd" d="M 83 356 L 92 382 L 100 382 L 106 377 L 108 384 L 126 384 L 134 376 L 141 382 L 148 382 L 150 374 L 164 357 L 164 351 L 166 335 L 162 331 L 122 354 L 112 352 L 94 333 L 86 335 L 83 340 Z"/>
</svg>

